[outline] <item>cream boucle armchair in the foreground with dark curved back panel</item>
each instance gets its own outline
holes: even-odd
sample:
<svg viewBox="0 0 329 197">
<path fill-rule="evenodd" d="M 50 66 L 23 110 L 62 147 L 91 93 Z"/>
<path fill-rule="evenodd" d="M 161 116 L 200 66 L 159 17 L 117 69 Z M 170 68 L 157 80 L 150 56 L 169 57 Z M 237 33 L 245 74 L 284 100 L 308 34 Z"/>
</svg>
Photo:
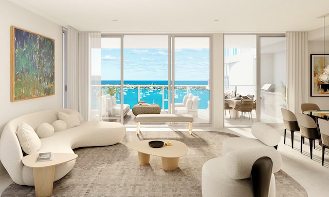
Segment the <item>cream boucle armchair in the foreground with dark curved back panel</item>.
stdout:
<svg viewBox="0 0 329 197">
<path fill-rule="evenodd" d="M 256 160 L 268 156 L 273 162 L 269 196 L 276 196 L 275 176 L 282 166 L 282 158 L 273 147 L 234 150 L 222 157 L 208 160 L 202 168 L 202 196 L 253 197 L 251 169 Z"/>
</svg>

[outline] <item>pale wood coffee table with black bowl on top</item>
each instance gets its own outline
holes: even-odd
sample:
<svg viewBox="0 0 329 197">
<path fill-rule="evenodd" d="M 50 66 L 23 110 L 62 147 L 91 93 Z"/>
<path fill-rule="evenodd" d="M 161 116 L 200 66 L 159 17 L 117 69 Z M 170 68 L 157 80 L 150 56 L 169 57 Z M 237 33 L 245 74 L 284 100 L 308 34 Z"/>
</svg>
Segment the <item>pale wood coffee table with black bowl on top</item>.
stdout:
<svg viewBox="0 0 329 197">
<path fill-rule="evenodd" d="M 127 147 L 138 152 L 138 162 L 140 166 L 148 165 L 150 163 L 150 155 L 160 156 L 163 170 L 174 170 L 178 167 L 179 157 L 187 154 L 186 144 L 176 140 L 157 140 L 171 142 L 171 146 L 163 145 L 161 148 L 152 148 L 149 142 L 152 140 L 142 140 L 136 142 L 129 142 Z"/>
</svg>

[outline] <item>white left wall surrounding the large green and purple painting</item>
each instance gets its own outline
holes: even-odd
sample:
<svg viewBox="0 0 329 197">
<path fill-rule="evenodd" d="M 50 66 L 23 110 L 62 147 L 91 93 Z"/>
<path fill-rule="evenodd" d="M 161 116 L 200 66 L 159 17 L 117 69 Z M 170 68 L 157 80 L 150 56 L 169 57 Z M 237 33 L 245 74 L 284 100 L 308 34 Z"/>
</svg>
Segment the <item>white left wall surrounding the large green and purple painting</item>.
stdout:
<svg viewBox="0 0 329 197">
<path fill-rule="evenodd" d="M 0 133 L 13 117 L 62 106 L 62 27 L 6 0 L 0 0 Z M 10 26 L 55 40 L 55 94 L 38 99 L 10 102 Z M 0 165 L 0 175 L 5 172 Z"/>
</svg>

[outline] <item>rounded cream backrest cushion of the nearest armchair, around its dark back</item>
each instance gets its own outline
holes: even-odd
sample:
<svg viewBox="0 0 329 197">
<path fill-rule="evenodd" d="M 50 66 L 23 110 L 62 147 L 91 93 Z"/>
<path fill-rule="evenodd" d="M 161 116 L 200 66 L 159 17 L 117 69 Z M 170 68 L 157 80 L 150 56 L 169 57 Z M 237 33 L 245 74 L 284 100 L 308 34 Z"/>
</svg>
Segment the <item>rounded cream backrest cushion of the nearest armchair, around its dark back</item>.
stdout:
<svg viewBox="0 0 329 197">
<path fill-rule="evenodd" d="M 273 162 L 272 172 L 278 172 L 282 166 L 282 157 L 274 147 L 248 148 L 234 150 L 225 154 L 224 167 L 231 179 L 247 179 L 251 176 L 253 163 L 262 156 L 268 156 Z"/>
</svg>

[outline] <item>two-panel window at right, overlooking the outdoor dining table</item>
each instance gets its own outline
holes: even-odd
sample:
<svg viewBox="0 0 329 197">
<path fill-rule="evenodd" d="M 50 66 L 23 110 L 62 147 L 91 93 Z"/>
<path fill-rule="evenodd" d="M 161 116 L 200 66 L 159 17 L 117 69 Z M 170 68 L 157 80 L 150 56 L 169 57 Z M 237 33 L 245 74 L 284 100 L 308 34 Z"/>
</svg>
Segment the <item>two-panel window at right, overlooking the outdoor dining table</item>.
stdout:
<svg viewBox="0 0 329 197">
<path fill-rule="evenodd" d="M 282 35 L 225 35 L 224 96 L 226 127 L 254 122 L 282 123 L 285 107 L 285 37 Z M 253 105 L 239 109 L 244 98 Z"/>
</svg>

